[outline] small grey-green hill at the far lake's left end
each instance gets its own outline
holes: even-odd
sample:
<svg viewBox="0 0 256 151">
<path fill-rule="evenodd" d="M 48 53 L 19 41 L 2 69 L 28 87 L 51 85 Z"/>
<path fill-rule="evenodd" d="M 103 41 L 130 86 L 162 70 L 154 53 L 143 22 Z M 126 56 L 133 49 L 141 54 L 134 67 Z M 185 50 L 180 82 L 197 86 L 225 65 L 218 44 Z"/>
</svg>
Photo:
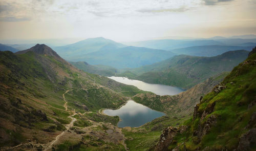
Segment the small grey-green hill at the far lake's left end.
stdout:
<svg viewBox="0 0 256 151">
<path fill-rule="evenodd" d="M 91 65 L 87 62 L 79 61 L 79 62 L 70 62 L 76 68 L 83 70 L 85 72 L 103 75 L 103 76 L 113 76 L 116 73 L 115 68 L 103 65 Z"/>
</svg>

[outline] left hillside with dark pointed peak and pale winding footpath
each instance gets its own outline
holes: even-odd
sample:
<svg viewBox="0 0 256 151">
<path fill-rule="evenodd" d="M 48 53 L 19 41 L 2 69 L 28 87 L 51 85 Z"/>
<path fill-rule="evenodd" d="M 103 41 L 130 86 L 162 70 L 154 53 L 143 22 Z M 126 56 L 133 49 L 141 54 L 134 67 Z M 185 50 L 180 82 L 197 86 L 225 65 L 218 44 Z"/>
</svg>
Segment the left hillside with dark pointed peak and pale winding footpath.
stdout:
<svg viewBox="0 0 256 151">
<path fill-rule="evenodd" d="M 119 119 L 98 110 L 116 108 L 138 92 L 136 87 L 76 69 L 46 45 L 16 54 L 0 52 L 1 150 L 94 148 L 97 143 L 98 148 L 120 150 L 123 136 L 115 130 Z M 82 102 L 81 94 L 86 96 Z M 106 133 L 109 129 L 111 133 Z M 111 137 L 101 142 L 95 135 Z"/>
</svg>

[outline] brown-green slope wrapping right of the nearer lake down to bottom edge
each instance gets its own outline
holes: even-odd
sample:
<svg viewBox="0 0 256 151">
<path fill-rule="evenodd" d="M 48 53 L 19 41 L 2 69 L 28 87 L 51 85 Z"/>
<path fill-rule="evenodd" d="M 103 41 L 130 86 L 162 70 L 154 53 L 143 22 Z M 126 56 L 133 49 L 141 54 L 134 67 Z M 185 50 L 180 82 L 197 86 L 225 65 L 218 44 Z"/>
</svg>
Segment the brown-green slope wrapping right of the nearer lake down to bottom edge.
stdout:
<svg viewBox="0 0 256 151">
<path fill-rule="evenodd" d="M 175 96 L 157 96 L 155 94 L 138 94 L 132 99 L 138 103 L 149 106 L 154 110 L 164 112 L 166 116 L 154 119 L 140 127 L 124 128 L 127 138 L 125 143 L 130 150 L 154 149 L 164 127 L 177 126 L 189 119 L 194 105 L 199 102 L 200 96 L 208 93 L 214 85 L 218 84 L 229 73 L 222 73 L 209 80 L 197 84 L 186 92 Z M 140 97 L 142 96 L 142 98 Z"/>
</svg>

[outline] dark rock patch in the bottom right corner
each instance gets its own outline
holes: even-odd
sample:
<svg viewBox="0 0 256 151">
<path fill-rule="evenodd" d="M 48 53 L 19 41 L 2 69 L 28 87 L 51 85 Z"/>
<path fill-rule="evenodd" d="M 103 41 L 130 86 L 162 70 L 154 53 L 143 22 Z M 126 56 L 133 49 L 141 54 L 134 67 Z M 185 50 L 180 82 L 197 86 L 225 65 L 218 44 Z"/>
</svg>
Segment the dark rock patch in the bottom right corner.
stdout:
<svg viewBox="0 0 256 151">
<path fill-rule="evenodd" d="M 256 146 L 256 128 L 246 132 L 239 140 L 238 151 L 252 150 Z"/>
</svg>

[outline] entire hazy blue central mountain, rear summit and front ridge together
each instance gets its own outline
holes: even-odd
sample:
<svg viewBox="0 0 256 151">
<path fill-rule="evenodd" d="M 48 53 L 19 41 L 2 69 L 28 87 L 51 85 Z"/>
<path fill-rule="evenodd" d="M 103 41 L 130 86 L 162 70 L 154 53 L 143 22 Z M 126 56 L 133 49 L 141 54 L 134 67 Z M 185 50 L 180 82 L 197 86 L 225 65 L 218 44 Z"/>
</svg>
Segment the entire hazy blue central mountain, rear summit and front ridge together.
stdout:
<svg viewBox="0 0 256 151">
<path fill-rule="evenodd" d="M 86 61 L 118 69 L 137 68 L 175 55 L 165 50 L 125 46 L 103 37 L 90 38 L 55 49 L 61 57 L 69 61 Z"/>
</svg>

